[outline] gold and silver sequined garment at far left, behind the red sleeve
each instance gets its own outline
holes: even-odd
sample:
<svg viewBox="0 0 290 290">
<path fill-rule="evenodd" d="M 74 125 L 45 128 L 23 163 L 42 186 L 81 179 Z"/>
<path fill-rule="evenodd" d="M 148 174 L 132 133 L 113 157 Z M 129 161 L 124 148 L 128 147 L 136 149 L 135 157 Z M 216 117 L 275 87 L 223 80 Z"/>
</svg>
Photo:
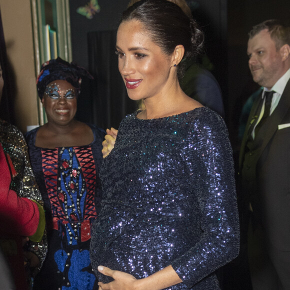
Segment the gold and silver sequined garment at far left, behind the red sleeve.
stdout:
<svg viewBox="0 0 290 290">
<path fill-rule="evenodd" d="M 5 153 L 9 154 L 17 173 L 11 180 L 10 188 L 16 191 L 19 196 L 33 199 L 43 205 L 29 162 L 27 145 L 21 131 L 6 121 L 0 120 L 0 142 Z M 40 266 L 35 269 L 35 274 L 41 268 L 47 252 L 46 234 L 39 243 L 30 241 L 29 250 L 34 252 L 40 260 Z"/>
</svg>

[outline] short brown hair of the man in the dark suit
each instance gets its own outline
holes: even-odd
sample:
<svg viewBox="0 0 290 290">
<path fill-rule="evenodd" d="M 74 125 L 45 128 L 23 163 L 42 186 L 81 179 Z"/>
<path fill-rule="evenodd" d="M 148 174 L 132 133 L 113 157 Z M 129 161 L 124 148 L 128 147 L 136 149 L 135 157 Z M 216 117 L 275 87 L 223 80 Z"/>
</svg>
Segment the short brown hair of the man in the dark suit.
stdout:
<svg viewBox="0 0 290 290">
<path fill-rule="evenodd" d="M 254 37 L 264 29 L 267 29 L 270 33 L 270 37 L 276 44 L 276 49 L 280 49 L 284 44 L 290 45 L 290 27 L 286 27 L 280 20 L 277 19 L 265 20 L 257 25 L 254 25 L 248 32 L 249 38 Z"/>
</svg>

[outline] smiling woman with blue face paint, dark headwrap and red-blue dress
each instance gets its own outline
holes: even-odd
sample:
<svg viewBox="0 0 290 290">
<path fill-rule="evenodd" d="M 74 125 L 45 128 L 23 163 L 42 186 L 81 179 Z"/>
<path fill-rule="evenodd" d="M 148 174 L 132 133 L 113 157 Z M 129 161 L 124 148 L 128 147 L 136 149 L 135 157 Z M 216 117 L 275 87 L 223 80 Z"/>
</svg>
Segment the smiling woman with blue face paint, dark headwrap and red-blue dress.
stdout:
<svg viewBox="0 0 290 290">
<path fill-rule="evenodd" d="M 47 123 L 28 132 L 26 140 L 44 201 L 48 252 L 34 289 L 91 290 L 95 283 L 89 242 L 101 198 L 104 131 L 74 119 L 83 76 L 90 77 L 57 58 L 44 63 L 37 78 Z"/>
</svg>

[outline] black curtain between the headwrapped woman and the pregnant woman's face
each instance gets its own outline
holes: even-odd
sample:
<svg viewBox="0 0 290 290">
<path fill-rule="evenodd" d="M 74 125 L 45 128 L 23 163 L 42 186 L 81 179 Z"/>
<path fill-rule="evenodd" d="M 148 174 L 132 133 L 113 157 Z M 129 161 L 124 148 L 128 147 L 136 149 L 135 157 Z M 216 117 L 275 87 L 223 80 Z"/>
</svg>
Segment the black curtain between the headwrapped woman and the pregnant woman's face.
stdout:
<svg viewBox="0 0 290 290">
<path fill-rule="evenodd" d="M 90 116 L 83 115 L 85 121 L 101 128 L 118 128 L 121 119 L 136 110 L 136 102 L 129 99 L 118 71 L 115 43 L 115 30 L 88 32 L 88 70 L 94 79 L 90 86 L 86 86 L 90 89 L 86 97 L 79 98 L 81 103 L 77 110 L 78 117 L 81 112 L 82 115 L 90 113 Z M 86 109 L 80 109 L 80 106 Z"/>
</svg>

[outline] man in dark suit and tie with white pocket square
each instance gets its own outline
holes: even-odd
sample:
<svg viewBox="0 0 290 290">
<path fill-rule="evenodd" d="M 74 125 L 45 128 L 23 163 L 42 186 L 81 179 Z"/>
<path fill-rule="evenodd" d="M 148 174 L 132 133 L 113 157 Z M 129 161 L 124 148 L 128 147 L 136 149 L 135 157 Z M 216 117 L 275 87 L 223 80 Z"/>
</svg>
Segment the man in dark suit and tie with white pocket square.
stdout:
<svg viewBox="0 0 290 290">
<path fill-rule="evenodd" d="M 248 257 L 253 289 L 290 289 L 290 28 L 253 26 L 247 46 L 253 80 L 263 86 L 243 135 L 239 173 L 250 209 Z"/>
</svg>

